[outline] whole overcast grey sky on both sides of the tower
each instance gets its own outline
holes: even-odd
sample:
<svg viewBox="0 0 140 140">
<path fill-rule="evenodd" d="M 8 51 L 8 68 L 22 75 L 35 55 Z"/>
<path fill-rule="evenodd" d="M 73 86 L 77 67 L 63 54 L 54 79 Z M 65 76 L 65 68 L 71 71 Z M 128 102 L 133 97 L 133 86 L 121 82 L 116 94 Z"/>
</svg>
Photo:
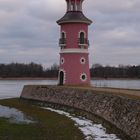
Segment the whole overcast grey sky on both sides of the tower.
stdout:
<svg viewBox="0 0 140 140">
<path fill-rule="evenodd" d="M 65 0 L 0 0 L 0 63 L 59 62 Z M 140 64 L 140 0 L 85 0 L 90 65 Z"/>
</svg>

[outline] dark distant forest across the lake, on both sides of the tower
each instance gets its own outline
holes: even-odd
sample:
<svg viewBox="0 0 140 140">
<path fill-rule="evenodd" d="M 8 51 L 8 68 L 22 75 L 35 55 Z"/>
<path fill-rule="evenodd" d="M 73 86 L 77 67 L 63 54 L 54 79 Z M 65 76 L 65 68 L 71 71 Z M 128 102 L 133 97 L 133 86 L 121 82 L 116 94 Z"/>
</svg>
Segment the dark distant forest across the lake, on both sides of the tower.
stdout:
<svg viewBox="0 0 140 140">
<path fill-rule="evenodd" d="M 58 65 L 53 64 L 49 68 L 43 68 L 41 64 L 0 64 L 1 78 L 42 77 L 56 78 L 58 76 Z M 140 78 L 140 65 L 137 66 L 102 66 L 94 64 L 90 68 L 92 78 Z"/>
</svg>

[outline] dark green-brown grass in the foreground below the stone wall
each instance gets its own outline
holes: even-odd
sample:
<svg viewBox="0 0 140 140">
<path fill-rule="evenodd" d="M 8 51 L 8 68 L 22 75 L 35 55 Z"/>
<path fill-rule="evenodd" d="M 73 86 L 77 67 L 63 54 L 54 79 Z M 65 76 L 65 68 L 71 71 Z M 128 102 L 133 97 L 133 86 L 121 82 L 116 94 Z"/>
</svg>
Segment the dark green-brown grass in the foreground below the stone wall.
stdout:
<svg viewBox="0 0 140 140">
<path fill-rule="evenodd" d="M 0 140 L 82 140 L 81 131 L 69 118 L 48 110 L 32 106 L 20 99 L 0 100 L 4 106 L 14 107 L 36 123 L 17 124 L 0 118 Z"/>
</svg>

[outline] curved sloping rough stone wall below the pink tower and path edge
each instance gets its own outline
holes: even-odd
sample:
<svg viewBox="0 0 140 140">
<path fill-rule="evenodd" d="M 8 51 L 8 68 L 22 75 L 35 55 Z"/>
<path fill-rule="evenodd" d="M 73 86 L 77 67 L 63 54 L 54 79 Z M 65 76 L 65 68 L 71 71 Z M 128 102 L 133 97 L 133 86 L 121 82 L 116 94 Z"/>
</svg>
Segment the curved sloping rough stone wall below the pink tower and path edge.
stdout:
<svg viewBox="0 0 140 140">
<path fill-rule="evenodd" d="M 21 98 L 47 101 L 94 113 L 140 140 L 140 101 L 91 89 L 59 86 L 25 86 Z"/>
</svg>

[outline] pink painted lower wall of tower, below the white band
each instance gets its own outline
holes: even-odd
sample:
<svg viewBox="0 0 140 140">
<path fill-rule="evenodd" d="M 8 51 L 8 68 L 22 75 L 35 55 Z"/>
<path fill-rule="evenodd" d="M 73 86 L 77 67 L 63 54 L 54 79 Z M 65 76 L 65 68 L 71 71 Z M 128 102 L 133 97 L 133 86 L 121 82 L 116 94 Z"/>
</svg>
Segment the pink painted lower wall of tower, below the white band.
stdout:
<svg viewBox="0 0 140 140">
<path fill-rule="evenodd" d="M 60 62 L 60 70 L 65 71 L 65 85 L 90 85 L 88 54 L 61 54 L 62 57 L 64 64 Z M 85 64 L 80 63 L 81 57 L 86 59 Z M 87 75 L 86 81 L 80 79 L 82 73 Z"/>
</svg>

